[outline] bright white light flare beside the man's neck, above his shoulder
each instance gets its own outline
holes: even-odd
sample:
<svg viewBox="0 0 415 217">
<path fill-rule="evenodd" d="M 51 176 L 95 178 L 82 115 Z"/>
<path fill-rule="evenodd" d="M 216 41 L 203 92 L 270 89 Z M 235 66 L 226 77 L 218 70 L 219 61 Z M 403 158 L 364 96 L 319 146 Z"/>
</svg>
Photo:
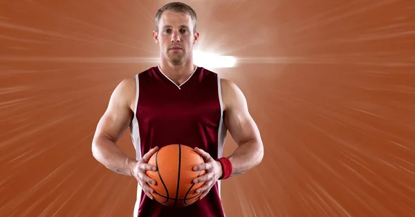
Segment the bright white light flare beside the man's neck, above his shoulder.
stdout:
<svg viewBox="0 0 415 217">
<path fill-rule="evenodd" d="M 237 63 L 237 58 L 194 50 L 193 62 L 204 68 L 232 68 Z"/>
</svg>

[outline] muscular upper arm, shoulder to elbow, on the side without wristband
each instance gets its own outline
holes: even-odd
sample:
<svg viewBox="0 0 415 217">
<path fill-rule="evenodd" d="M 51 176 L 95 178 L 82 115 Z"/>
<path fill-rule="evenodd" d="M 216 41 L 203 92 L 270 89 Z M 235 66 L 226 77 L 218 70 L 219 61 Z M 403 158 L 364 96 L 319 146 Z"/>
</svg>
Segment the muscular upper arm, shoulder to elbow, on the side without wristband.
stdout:
<svg viewBox="0 0 415 217">
<path fill-rule="evenodd" d="M 133 83 L 132 83 L 133 82 Z M 95 138 L 105 136 L 116 142 L 128 128 L 133 117 L 131 99 L 135 95 L 135 81 L 124 79 L 111 94 L 104 115 L 98 122 Z"/>
</svg>

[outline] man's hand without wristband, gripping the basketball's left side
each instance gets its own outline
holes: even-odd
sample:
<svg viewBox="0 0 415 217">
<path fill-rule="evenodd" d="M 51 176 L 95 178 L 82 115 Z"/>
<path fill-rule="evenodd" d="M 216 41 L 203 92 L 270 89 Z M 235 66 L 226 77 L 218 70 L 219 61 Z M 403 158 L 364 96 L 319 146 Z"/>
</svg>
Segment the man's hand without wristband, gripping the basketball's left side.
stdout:
<svg viewBox="0 0 415 217">
<path fill-rule="evenodd" d="M 133 177 L 135 177 L 138 181 L 138 185 L 141 186 L 144 193 L 149 197 L 151 200 L 153 200 L 153 196 L 151 194 L 154 193 L 154 189 L 151 189 L 149 184 L 156 185 L 156 180 L 149 178 L 146 171 L 157 171 L 157 168 L 153 165 L 148 164 L 150 158 L 154 153 L 158 151 L 158 147 L 154 147 L 153 149 L 150 149 L 149 152 L 147 152 L 142 158 L 133 164 L 131 167 L 131 174 Z"/>
</svg>

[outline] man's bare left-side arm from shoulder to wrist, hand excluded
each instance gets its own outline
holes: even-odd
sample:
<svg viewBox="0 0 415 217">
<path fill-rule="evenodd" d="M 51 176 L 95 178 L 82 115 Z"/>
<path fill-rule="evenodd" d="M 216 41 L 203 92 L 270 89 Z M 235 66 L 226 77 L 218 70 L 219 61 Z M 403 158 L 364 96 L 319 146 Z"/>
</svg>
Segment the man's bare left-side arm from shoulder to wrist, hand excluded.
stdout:
<svg viewBox="0 0 415 217">
<path fill-rule="evenodd" d="M 110 97 L 107 110 L 98 122 L 92 142 L 93 157 L 108 169 L 126 176 L 132 176 L 131 168 L 136 160 L 123 153 L 116 143 L 133 117 L 131 103 L 135 95 L 134 77 L 118 84 Z"/>
</svg>

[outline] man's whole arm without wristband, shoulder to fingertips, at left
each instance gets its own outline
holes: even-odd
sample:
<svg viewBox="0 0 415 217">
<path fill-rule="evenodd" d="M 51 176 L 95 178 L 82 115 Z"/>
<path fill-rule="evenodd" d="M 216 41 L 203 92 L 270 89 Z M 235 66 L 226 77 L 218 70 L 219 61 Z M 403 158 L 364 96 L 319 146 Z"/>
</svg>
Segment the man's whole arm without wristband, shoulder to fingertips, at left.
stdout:
<svg viewBox="0 0 415 217">
<path fill-rule="evenodd" d="M 148 183 L 156 185 L 145 171 L 156 171 L 154 165 L 148 164 L 149 159 L 158 151 L 158 147 L 150 149 L 140 160 L 129 158 L 117 145 L 124 131 L 133 118 L 133 103 L 136 102 L 135 77 L 124 79 L 113 91 L 107 111 L 98 122 L 92 141 L 93 157 L 108 169 L 125 176 L 133 176 L 145 194 L 152 200 L 154 189 Z"/>
</svg>

